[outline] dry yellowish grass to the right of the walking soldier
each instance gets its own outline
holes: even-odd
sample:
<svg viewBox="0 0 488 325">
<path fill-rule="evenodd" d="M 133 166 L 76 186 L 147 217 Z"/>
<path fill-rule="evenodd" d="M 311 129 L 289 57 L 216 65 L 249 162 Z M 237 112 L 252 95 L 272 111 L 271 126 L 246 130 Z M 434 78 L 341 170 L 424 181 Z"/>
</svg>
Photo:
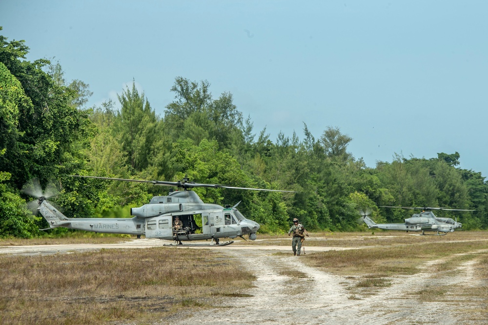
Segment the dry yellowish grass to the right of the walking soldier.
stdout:
<svg viewBox="0 0 488 325">
<path fill-rule="evenodd" d="M 358 295 L 374 294 L 377 287 L 390 285 L 390 280 L 398 275 L 412 275 L 426 271 L 421 266 L 433 260 L 439 262 L 428 270 L 436 285 L 427 284 L 412 291 L 412 296 L 420 302 L 439 301 L 462 306 L 462 314 L 467 319 L 479 321 L 488 318 L 488 233 L 464 232 L 466 237 L 456 236 L 453 240 L 442 237 L 413 237 L 420 242 L 407 244 L 409 238 L 392 237 L 398 241 L 384 247 L 367 249 L 331 250 L 311 253 L 304 260 L 308 265 L 332 272 L 348 279 L 353 284 L 349 287 L 349 299 L 361 299 Z M 383 241 L 384 239 L 382 239 Z M 398 245 L 398 243 L 402 243 Z M 472 285 L 453 284 L 450 280 L 462 276 L 467 262 L 474 263 L 475 274 Z M 467 308 L 466 302 L 473 307 Z M 460 307 L 461 308 L 461 307 Z M 461 309 L 460 309 L 461 311 Z"/>
</svg>

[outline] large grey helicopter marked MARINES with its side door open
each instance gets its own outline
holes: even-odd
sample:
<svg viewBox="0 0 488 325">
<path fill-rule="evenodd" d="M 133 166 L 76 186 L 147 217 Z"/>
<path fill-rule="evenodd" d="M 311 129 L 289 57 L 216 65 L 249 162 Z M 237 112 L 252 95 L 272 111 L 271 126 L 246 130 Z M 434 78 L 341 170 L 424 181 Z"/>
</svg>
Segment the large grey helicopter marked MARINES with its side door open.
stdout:
<svg viewBox="0 0 488 325">
<path fill-rule="evenodd" d="M 137 235 L 138 238 L 141 235 L 145 235 L 146 238 L 172 240 L 178 245 L 183 245 L 182 241 L 211 239 L 211 244 L 205 245 L 224 246 L 232 244 L 233 241 L 220 243 L 221 238 L 241 237 L 245 239 L 244 235 L 248 235 L 250 240 L 255 240 L 257 237 L 256 232 L 260 227 L 258 223 L 246 219 L 237 210 L 239 203 L 233 207 L 226 206 L 225 208 L 217 204 L 203 203 L 197 193 L 191 191 L 192 188 L 209 187 L 294 193 L 294 191 L 200 184 L 189 182 L 187 177 L 183 178 L 182 181 L 167 182 L 98 176 L 72 176 L 173 186 L 181 191 L 172 191 L 165 196 L 154 196 L 148 204 L 144 204 L 140 208 L 131 208 L 130 214 L 133 216 L 132 218 L 68 218 L 41 196 L 38 199 L 38 204 L 40 205 L 38 210 L 40 210 L 42 216 L 49 224 L 50 228 L 47 229 L 65 227 L 94 232 Z M 182 224 L 181 226 L 173 227 L 176 218 L 179 218 Z M 200 219 L 202 224 L 201 233 L 196 233 L 196 230 L 200 229 L 196 223 L 197 219 Z"/>
</svg>

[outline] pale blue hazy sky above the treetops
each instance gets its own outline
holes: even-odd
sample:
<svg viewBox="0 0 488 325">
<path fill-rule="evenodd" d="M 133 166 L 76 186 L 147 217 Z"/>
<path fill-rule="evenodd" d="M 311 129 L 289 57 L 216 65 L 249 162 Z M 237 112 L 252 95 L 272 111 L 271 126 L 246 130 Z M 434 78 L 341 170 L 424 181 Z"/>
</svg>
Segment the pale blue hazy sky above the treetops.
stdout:
<svg viewBox="0 0 488 325">
<path fill-rule="evenodd" d="M 488 176 L 488 1 L 1 0 L 0 26 L 89 106 L 134 79 L 163 116 L 176 76 L 206 79 L 273 141 L 333 126 L 370 167 L 457 151 Z"/>
</svg>

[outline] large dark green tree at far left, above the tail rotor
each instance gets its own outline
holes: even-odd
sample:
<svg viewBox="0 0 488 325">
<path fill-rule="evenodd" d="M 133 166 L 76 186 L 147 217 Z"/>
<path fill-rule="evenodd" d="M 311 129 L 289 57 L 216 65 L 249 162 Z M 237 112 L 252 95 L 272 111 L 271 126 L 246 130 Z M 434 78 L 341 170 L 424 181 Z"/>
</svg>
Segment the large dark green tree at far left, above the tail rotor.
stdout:
<svg viewBox="0 0 488 325">
<path fill-rule="evenodd" d="M 27 51 L 23 40 L 8 42 L 7 38 L 0 37 L 2 74 L 7 76 L 6 67 L 28 97 L 18 93 L 21 97 L 16 103 L 17 133 L 21 136 L 7 153 L 8 161 L 2 165 L 2 170 L 12 175 L 10 184 L 18 189 L 34 176 L 45 184 L 61 172 L 70 172 L 66 171 L 66 166 L 72 166 L 76 154 L 73 145 L 85 136 L 83 133 L 89 124 L 86 112 L 70 106 L 75 92 L 57 84 L 42 70 L 50 64 L 49 60 L 27 61 Z M 8 80 L 11 85 L 15 83 L 11 77 L 2 80 Z M 18 84 L 15 87 L 19 89 Z"/>
</svg>

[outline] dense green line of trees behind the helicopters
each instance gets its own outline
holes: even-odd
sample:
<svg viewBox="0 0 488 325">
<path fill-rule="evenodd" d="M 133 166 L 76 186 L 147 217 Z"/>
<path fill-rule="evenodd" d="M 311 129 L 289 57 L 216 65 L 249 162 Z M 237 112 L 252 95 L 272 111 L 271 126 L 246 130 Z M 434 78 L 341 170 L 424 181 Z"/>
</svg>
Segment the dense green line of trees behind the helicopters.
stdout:
<svg viewBox="0 0 488 325">
<path fill-rule="evenodd" d="M 352 138 L 336 127 L 315 138 L 304 124 L 302 139 L 280 133 L 273 142 L 265 129 L 253 133 L 232 94 L 214 98 L 208 81 L 183 77 L 175 79 L 163 117 L 135 82 L 118 96 L 120 109 L 112 101 L 86 108 L 88 85 L 67 82 L 59 63 L 26 60 L 28 50 L 24 41 L 0 36 L 1 236 L 38 236 L 46 226 L 26 208 L 30 198 L 21 189 L 32 179 L 44 188 L 55 184 L 53 201 L 73 217 L 126 213 L 123 207 L 168 191 L 72 174 L 173 181 L 187 174 L 200 183 L 297 191 L 195 189 L 207 203 L 241 201 L 239 209 L 263 231 L 283 231 L 295 217 L 308 229 L 360 230 L 360 209 L 377 222 L 401 222 L 411 213 L 379 206 L 472 209 L 439 214 L 457 217 L 466 229 L 488 227 L 488 184 L 480 172 L 457 167 L 459 153 L 397 155 L 368 168 L 347 152 Z"/>
</svg>

